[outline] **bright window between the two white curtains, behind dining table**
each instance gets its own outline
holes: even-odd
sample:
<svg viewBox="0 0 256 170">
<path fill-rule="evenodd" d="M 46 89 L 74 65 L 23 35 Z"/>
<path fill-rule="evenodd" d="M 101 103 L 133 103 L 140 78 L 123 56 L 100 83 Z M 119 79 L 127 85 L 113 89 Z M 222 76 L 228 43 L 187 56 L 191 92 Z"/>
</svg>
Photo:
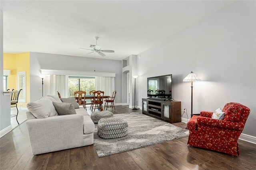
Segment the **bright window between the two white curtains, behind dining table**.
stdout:
<svg viewBox="0 0 256 170">
<path fill-rule="evenodd" d="M 95 77 L 68 77 L 68 96 L 74 96 L 75 91 L 86 91 L 86 95 L 90 95 L 90 91 L 95 90 Z"/>
</svg>

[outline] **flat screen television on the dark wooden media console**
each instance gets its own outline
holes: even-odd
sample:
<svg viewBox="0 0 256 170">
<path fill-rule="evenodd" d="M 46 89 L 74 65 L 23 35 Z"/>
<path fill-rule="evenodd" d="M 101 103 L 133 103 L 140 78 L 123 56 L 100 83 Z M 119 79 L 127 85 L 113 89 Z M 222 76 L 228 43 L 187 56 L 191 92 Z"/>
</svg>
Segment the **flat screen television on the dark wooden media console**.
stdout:
<svg viewBox="0 0 256 170">
<path fill-rule="evenodd" d="M 172 75 L 148 77 L 148 97 L 172 99 Z"/>
</svg>

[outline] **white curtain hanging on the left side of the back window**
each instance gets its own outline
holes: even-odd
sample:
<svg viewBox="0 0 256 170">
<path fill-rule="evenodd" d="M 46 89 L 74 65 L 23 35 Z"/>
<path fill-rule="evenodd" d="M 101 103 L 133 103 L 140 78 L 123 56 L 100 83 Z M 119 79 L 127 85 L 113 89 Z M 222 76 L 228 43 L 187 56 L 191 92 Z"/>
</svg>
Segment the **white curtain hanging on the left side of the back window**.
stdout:
<svg viewBox="0 0 256 170">
<path fill-rule="evenodd" d="M 50 75 L 50 94 L 68 97 L 68 75 Z"/>
</svg>

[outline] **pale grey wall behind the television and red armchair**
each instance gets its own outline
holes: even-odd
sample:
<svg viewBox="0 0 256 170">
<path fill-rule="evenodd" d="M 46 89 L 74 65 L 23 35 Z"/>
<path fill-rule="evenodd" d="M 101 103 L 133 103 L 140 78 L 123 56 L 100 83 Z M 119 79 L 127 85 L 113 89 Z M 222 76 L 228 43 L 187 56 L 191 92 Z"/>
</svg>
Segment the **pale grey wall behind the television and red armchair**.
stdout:
<svg viewBox="0 0 256 170">
<path fill-rule="evenodd" d="M 193 71 L 202 79 L 193 83 L 193 113 L 241 103 L 251 109 L 243 133 L 256 136 L 255 6 L 255 1 L 237 2 L 140 53 L 139 105 L 147 97 L 147 77 L 172 74 L 173 98 L 182 102 L 190 119 L 190 82 L 182 80 Z"/>
</svg>

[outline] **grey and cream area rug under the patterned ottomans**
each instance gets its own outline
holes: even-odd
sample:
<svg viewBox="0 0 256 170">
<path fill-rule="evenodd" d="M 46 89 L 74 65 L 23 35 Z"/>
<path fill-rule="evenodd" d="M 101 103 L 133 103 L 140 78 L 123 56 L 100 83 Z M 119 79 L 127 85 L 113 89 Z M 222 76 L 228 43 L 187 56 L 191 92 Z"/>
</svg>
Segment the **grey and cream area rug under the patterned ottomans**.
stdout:
<svg viewBox="0 0 256 170">
<path fill-rule="evenodd" d="M 188 136 L 189 131 L 142 113 L 114 114 L 128 123 L 128 134 L 122 138 L 102 139 L 95 124 L 94 148 L 98 157 L 109 156 L 144 146 L 150 146 Z"/>
</svg>

